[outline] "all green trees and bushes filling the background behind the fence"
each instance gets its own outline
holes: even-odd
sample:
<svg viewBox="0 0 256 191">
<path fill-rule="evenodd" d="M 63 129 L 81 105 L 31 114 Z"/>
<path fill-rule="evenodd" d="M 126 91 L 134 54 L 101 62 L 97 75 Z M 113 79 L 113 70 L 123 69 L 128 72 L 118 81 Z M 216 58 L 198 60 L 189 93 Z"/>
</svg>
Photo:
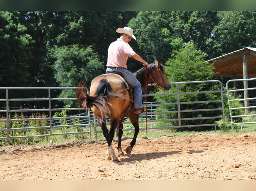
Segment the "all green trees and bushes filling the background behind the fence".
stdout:
<svg viewBox="0 0 256 191">
<path fill-rule="evenodd" d="M 142 58 L 148 63 L 161 58 L 167 64 L 171 82 L 210 80 L 212 66 L 202 61 L 245 46 L 254 47 L 255 17 L 256 11 L 0 11 L 0 86 L 75 87 L 89 75 L 90 83 L 105 72 L 108 46 L 119 37 L 116 29 L 124 26 L 134 29 L 137 40 L 130 44 Z M 128 59 L 128 67 L 135 72 L 142 65 Z M 214 87 L 184 85 L 181 89 L 214 90 Z M 175 88 L 170 90 L 174 91 Z M 60 94 L 74 97 L 75 92 L 65 90 Z M 21 92 L 11 96 L 24 95 Z M 38 97 L 32 91 L 29 95 Z M 5 94 L 0 93 L 0 97 Z M 175 97 L 170 96 L 169 100 Z M 64 104 L 72 103 L 64 101 Z M 17 103 L 11 107 L 31 106 L 38 105 Z M 228 113 L 226 106 L 225 113 Z"/>
</svg>

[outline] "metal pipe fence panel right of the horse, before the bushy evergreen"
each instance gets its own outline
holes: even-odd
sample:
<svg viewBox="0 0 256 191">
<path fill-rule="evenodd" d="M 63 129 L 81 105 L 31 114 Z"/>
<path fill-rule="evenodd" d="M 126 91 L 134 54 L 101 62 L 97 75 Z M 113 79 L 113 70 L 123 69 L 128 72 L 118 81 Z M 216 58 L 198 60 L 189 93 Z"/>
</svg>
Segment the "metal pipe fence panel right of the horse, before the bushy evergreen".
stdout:
<svg viewBox="0 0 256 191">
<path fill-rule="evenodd" d="M 185 92 L 182 91 L 182 86 L 188 85 L 196 85 L 196 84 L 209 84 L 218 86 L 214 91 L 199 91 L 199 92 Z M 173 96 L 173 102 L 150 102 L 147 103 L 147 113 L 142 113 L 140 115 L 139 123 L 144 124 L 148 122 L 151 125 L 147 128 L 148 130 L 154 129 L 168 129 L 168 128 L 189 128 L 189 127 L 207 127 L 213 126 L 215 131 L 217 130 L 218 120 L 224 119 L 224 99 L 223 99 L 223 87 L 222 83 L 218 80 L 210 80 L 210 81 L 196 81 L 196 82 L 176 82 L 170 83 L 171 86 L 176 87 L 176 92 L 174 93 L 163 93 L 163 94 L 148 94 L 148 97 L 156 97 L 156 96 Z M 151 86 L 151 85 L 149 85 Z M 200 100 L 184 100 L 180 98 L 180 96 L 184 95 L 206 95 L 212 94 L 216 96 L 217 99 L 209 100 L 205 96 L 201 96 Z M 200 105 L 202 108 L 194 109 L 193 104 Z M 145 102 L 144 102 L 145 106 Z M 160 107 L 165 107 L 166 111 L 160 109 Z M 168 108 L 172 108 L 169 109 Z M 190 109 L 188 109 L 190 108 Z M 198 114 L 200 113 L 200 114 Z M 169 115 L 171 118 L 161 119 L 160 115 Z M 147 121 L 146 121 L 147 116 Z M 209 123 L 209 121 L 215 121 Z M 95 126 L 98 126 L 96 119 L 94 119 L 96 123 Z M 110 124 L 108 120 L 107 124 Z M 130 128 L 130 121 L 124 121 L 124 131 L 125 130 L 133 130 Z M 128 128 L 125 127 L 128 126 Z M 146 128 L 140 128 L 141 130 L 145 130 Z M 101 130 L 96 131 L 100 133 Z"/>
</svg>

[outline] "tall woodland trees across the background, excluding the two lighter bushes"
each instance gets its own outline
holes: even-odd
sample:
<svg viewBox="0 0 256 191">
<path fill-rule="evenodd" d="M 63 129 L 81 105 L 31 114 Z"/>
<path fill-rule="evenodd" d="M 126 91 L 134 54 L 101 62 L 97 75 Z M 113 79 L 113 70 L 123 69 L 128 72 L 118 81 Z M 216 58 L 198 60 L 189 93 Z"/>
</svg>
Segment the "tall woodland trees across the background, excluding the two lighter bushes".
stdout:
<svg viewBox="0 0 256 191">
<path fill-rule="evenodd" d="M 56 47 L 91 46 L 106 64 L 108 46 L 119 37 L 116 29 L 124 26 L 134 29 L 137 41 L 131 45 L 148 62 L 173 58 L 173 50 L 189 41 L 214 58 L 255 46 L 255 16 L 255 11 L 0 11 L 1 86 L 58 86 L 51 67 L 56 57 L 49 56 Z M 136 71 L 141 65 L 133 62 L 129 59 Z"/>
</svg>

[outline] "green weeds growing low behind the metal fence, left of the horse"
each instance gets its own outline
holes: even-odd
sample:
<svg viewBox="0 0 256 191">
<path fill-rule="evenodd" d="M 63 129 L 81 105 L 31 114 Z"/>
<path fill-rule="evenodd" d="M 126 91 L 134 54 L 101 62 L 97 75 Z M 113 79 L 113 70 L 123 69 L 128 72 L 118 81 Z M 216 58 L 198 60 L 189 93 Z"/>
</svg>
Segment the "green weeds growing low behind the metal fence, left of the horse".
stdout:
<svg viewBox="0 0 256 191">
<path fill-rule="evenodd" d="M 60 112 L 55 112 L 53 117 L 67 117 L 67 112 L 69 111 L 68 108 L 70 108 L 70 105 L 66 105 L 65 110 L 62 110 Z M 33 145 L 36 143 L 59 143 L 64 140 L 83 140 L 87 139 L 89 140 L 89 137 L 85 134 L 77 133 L 77 134 L 64 134 L 64 135 L 51 135 L 50 129 L 47 128 L 49 126 L 48 121 L 46 119 L 47 116 L 45 114 L 32 114 L 30 116 L 29 120 L 26 120 L 26 116 L 23 113 L 15 113 L 12 119 L 20 119 L 12 121 L 10 126 L 12 130 L 9 131 L 9 136 L 16 137 L 12 139 L 0 139 L 0 146 L 3 145 L 13 145 L 13 144 L 29 144 Z M 1 120 L 4 120 L 5 118 L 3 116 L 0 117 Z M 54 121 L 54 120 L 53 120 Z M 54 123 L 52 121 L 52 123 Z M 69 132 L 83 132 L 85 131 L 84 128 L 82 128 L 79 124 L 79 119 L 72 119 L 68 120 L 67 118 L 60 118 L 58 119 L 58 122 L 54 123 L 56 125 L 70 125 L 74 124 L 75 126 L 72 127 L 56 127 L 51 129 L 51 134 L 58 134 L 58 133 L 69 133 Z M 37 127 L 37 128 L 31 128 L 31 129 L 25 129 L 27 127 Z M 40 128 L 41 127 L 41 128 Z M 17 129 L 21 128 L 21 129 Z M 24 128 L 24 129 L 22 129 Z M 0 121 L 0 129 L 6 129 L 6 122 Z M 16 130 L 17 129 L 17 130 Z M 43 136 L 38 136 L 43 135 Z M 0 131 L 1 137 L 6 137 L 7 132 L 6 130 Z M 21 136 L 38 136 L 34 138 L 19 138 Z"/>
</svg>

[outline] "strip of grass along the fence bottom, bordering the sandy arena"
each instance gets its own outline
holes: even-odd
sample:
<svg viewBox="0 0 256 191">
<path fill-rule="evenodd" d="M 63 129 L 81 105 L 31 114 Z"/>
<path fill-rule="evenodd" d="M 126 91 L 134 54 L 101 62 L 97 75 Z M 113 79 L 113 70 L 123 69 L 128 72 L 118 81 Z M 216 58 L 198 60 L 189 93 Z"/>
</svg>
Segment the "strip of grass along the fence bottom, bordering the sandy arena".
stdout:
<svg viewBox="0 0 256 191">
<path fill-rule="evenodd" d="M 148 123 L 147 128 L 154 127 L 155 123 Z M 234 125 L 234 124 L 233 124 Z M 180 131 L 177 128 L 165 128 L 165 129 L 145 129 L 145 124 L 140 124 L 140 131 L 138 134 L 139 137 L 160 137 L 160 136 L 187 136 L 190 134 L 195 133 L 219 133 L 219 134 L 234 134 L 234 133 L 247 133 L 247 132 L 255 132 L 256 131 L 256 124 L 244 124 L 241 130 L 240 125 L 233 126 L 233 130 L 231 130 L 231 126 L 225 125 L 225 128 L 219 125 L 217 131 L 213 127 L 212 130 L 208 131 Z M 109 125 L 108 125 L 109 129 Z M 54 130 L 55 131 L 55 130 Z M 65 130 L 66 131 L 66 130 Z M 105 140 L 103 136 L 102 130 L 100 126 L 97 126 L 97 135 L 95 133 L 94 128 L 92 128 L 92 140 Z M 67 131 L 66 131 L 67 132 Z M 56 132 L 58 133 L 57 130 Z M 117 131 L 116 131 L 117 133 Z M 116 133 L 115 137 L 116 138 Z M 131 124 L 124 124 L 124 133 L 123 137 L 133 138 L 134 136 L 134 127 Z M 19 144 L 28 144 L 28 145 L 45 145 L 45 144 L 61 144 L 65 142 L 76 142 L 76 141 L 90 141 L 89 133 L 82 133 L 82 134 L 65 134 L 65 135 L 52 135 L 52 136 L 45 136 L 45 137 L 36 137 L 36 138 L 17 138 L 17 139 L 0 139 L 0 146 L 6 145 L 19 145 Z"/>
</svg>

